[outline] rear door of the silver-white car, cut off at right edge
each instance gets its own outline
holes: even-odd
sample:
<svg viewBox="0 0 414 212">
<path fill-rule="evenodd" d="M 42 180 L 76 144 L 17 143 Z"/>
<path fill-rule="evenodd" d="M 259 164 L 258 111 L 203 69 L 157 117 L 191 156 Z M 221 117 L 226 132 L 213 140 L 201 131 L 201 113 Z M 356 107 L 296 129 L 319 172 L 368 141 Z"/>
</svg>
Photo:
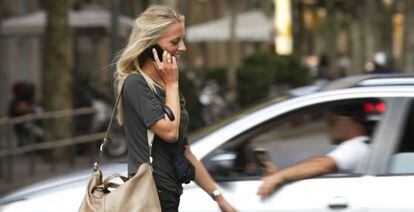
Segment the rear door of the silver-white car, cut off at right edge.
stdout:
<svg viewBox="0 0 414 212">
<path fill-rule="evenodd" d="M 368 164 L 366 211 L 414 211 L 413 98 L 395 98 L 392 104 Z"/>
</svg>

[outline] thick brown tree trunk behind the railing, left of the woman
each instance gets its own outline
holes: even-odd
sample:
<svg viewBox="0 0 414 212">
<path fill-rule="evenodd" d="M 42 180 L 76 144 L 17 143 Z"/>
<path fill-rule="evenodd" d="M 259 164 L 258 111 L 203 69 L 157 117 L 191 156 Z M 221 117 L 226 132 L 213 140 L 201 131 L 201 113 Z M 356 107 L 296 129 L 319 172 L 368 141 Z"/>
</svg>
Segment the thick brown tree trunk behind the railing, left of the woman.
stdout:
<svg viewBox="0 0 414 212">
<path fill-rule="evenodd" d="M 72 109 L 72 51 L 68 23 L 68 1 L 47 0 L 45 4 L 47 25 L 42 76 L 45 111 Z M 72 136 L 71 118 L 50 120 L 45 127 L 46 140 L 70 138 Z M 69 149 L 56 149 L 54 156 L 68 159 Z"/>
</svg>

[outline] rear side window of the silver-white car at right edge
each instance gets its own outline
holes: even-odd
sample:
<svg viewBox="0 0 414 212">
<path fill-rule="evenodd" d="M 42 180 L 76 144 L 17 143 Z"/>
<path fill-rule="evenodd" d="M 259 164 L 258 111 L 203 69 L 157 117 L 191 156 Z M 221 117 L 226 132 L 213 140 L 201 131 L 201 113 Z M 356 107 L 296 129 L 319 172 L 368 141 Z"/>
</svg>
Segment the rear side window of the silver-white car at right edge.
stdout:
<svg viewBox="0 0 414 212">
<path fill-rule="evenodd" d="M 402 138 L 388 166 L 389 174 L 414 174 L 414 104 L 408 113 Z"/>
</svg>

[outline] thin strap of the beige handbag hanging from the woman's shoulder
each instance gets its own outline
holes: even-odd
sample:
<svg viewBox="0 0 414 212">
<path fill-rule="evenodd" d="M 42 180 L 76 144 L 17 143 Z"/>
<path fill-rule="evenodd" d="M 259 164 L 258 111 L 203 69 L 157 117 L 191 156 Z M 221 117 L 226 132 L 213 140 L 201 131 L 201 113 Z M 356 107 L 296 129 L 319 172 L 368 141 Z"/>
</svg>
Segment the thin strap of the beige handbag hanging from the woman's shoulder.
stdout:
<svg viewBox="0 0 414 212">
<path fill-rule="evenodd" d="M 119 102 L 121 100 L 121 96 L 122 96 L 122 91 L 124 90 L 124 86 L 125 86 L 125 81 L 122 83 L 122 87 L 121 90 L 118 94 L 118 97 L 116 98 L 116 102 L 115 102 L 115 106 L 114 109 L 112 110 L 112 115 L 111 115 L 111 119 L 109 120 L 108 123 L 108 127 L 106 128 L 106 132 L 105 132 L 105 137 L 103 138 L 103 141 L 101 143 L 101 146 L 99 147 L 99 154 L 95 159 L 95 163 L 93 164 L 93 170 L 97 171 L 99 170 L 99 162 L 101 160 L 103 151 L 106 147 L 106 144 L 108 143 L 108 137 L 109 137 L 109 132 L 111 131 L 112 128 L 112 123 L 114 121 L 115 118 L 115 114 L 119 105 Z M 152 165 L 152 142 L 154 141 L 154 132 L 152 132 L 151 130 L 147 129 L 147 140 L 148 140 L 148 146 L 149 146 L 149 159 L 150 159 L 150 165 Z"/>
</svg>

